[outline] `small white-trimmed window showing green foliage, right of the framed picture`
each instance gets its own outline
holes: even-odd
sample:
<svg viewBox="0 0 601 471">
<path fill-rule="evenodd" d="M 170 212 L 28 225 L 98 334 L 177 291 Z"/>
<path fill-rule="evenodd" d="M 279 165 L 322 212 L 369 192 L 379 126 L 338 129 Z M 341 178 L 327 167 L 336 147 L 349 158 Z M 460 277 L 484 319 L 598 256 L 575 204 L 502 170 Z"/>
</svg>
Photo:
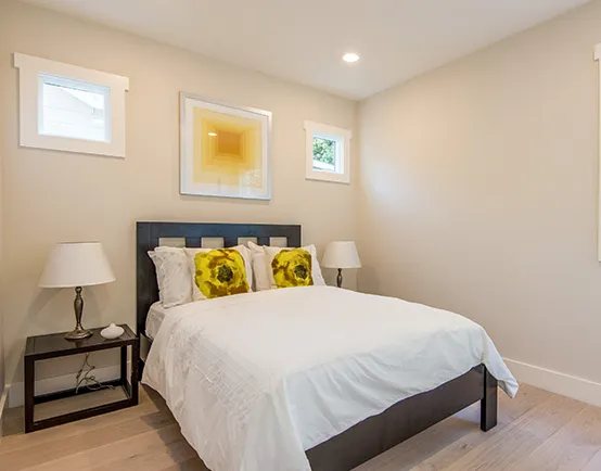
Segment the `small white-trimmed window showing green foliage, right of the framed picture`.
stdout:
<svg viewBox="0 0 601 471">
<path fill-rule="evenodd" d="M 307 175 L 311 180 L 350 182 L 350 131 L 306 122 Z"/>
</svg>

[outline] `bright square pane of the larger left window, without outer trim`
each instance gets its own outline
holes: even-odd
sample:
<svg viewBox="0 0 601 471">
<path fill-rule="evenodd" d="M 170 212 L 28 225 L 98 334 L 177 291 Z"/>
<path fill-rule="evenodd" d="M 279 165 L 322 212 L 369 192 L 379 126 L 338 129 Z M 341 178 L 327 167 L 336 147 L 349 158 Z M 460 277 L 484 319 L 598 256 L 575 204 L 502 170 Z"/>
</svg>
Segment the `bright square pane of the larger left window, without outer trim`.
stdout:
<svg viewBox="0 0 601 471">
<path fill-rule="evenodd" d="M 111 142 L 111 88 L 39 75 L 39 133 Z"/>
</svg>

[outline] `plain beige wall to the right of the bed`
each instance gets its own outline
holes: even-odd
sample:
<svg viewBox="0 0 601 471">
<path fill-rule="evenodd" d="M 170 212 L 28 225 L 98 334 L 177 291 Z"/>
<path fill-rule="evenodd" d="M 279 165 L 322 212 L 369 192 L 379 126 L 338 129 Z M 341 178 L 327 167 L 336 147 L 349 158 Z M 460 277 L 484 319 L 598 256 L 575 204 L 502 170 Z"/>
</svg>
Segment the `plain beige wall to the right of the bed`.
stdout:
<svg viewBox="0 0 601 471">
<path fill-rule="evenodd" d="M 361 104 L 361 289 L 601 381 L 597 42 L 601 1 Z"/>
</svg>

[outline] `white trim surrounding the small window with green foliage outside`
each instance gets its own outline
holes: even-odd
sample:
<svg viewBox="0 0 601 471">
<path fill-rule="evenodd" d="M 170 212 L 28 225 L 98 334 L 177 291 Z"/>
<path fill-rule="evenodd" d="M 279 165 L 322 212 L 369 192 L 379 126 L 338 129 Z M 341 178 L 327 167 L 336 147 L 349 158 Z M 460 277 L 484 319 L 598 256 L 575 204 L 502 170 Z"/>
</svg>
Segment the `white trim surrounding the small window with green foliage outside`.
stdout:
<svg viewBox="0 0 601 471">
<path fill-rule="evenodd" d="M 323 125 L 314 122 L 305 122 L 306 131 L 306 178 L 308 180 L 333 181 L 335 183 L 350 183 L 350 141 L 353 132 L 348 129 Z M 342 140 L 342 154 L 336 158 L 342 160 L 343 173 L 320 171 L 314 169 L 314 136 L 320 135 L 332 140 Z"/>
</svg>

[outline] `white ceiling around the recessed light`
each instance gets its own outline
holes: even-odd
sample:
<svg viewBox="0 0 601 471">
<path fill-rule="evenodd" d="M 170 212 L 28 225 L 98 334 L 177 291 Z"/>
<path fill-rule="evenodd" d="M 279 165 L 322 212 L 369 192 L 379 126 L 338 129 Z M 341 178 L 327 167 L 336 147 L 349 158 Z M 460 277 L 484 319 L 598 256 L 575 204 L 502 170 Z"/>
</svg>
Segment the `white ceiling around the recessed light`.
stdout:
<svg viewBox="0 0 601 471">
<path fill-rule="evenodd" d="M 589 0 L 24 1 L 362 99 Z"/>
</svg>

